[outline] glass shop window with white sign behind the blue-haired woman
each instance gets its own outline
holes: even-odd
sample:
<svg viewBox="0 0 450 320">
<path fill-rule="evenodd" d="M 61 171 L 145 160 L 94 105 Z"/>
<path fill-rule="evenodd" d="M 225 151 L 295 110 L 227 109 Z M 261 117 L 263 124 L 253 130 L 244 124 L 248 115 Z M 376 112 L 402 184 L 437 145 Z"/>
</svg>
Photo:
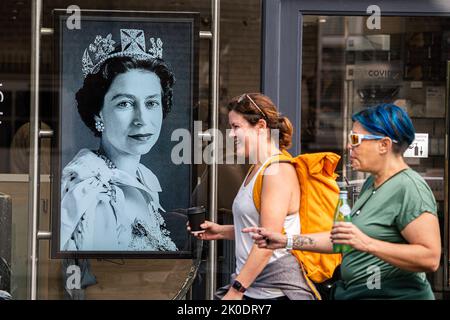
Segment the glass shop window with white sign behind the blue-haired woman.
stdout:
<svg viewBox="0 0 450 320">
<path fill-rule="evenodd" d="M 411 156 L 405 159 L 433 190 L 443 233 L 450 19 L 381 17 L 379 30 L 369 30 L 366 19 L 304 17 L 302 152 L 327 150 L 340 154 L 338 171 L 350 180 L 354 201 L 367 174 L 348 166 L 345 146 L 351 115 L 383 102 L 403 107 L 416 132 L 428 134 L 428 143 L 422 147 L 413 143 Z M 442 275 L 442 270 L 430 275 L 436 291 L 442 290 Z"/>
</svg>

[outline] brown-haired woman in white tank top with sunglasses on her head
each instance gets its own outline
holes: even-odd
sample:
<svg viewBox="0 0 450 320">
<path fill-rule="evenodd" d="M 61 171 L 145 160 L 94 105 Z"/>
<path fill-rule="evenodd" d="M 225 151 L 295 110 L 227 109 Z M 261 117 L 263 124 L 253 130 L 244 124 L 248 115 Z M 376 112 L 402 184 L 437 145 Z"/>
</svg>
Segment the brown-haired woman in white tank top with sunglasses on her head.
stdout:
<svg viewBox="0 0 450 320">
<path fill-rule="evenodd" d="M 265 165 L 291 145 L 291 122 L 281 116 L 273 102 L 259 93 L 243 94 L 227 105 L 236 153 L 254 160 L 233 202 L 233 225 L 206 221 L 203 233 L 193 233 L 202 240 L 235 240 L 236 273 L 231 284 L 221 288 L 216 298 L 223 299 L 316 299 L 306 283 L 296 258 L 286 248 L 267 249 L 254 245 L 242 229 L 258 225 L 274 232 L 299 234 L 300 189 L 294 167 L 289 163 Z M 277 131 L 273 131 L 277 130 Z M 279 133 L 273 141 L 271 132 Z M 256 177 L 264 171 L 261 208 L 253 202 Z M 189 228 L 188 228 L 189 230 Z M 295 269 L 295 272 L 292 270 Z"/>
</svg>

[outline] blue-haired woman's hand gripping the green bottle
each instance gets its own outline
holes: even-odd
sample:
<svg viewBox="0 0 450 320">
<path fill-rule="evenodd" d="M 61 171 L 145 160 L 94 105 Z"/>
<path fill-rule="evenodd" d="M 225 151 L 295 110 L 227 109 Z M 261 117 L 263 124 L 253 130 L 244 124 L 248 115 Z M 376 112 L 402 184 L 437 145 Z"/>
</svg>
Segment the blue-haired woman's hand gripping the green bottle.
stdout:
<svg viewBox="0 0 450 320">
<path fill-rule="evenodd" d="M 353 249 L 370 252 L 373 239 L 363 233 L 351 222 L 337 222 L 331 229 L 333 244 L 348 244 Z"/>
</svg>

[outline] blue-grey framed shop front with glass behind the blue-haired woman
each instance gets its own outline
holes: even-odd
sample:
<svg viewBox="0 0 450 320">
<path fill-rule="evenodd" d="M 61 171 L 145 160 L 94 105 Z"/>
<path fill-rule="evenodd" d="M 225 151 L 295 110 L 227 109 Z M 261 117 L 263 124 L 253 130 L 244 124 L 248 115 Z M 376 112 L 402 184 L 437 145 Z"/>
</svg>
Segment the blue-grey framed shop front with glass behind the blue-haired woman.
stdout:
<svg viewBox="0 0 450 320">
<path fill-rule="evenodd" d="M 430 274 L 437 297 L 448 290 L 447 1 L 266 1 L 263 91 L 296 119 L 296 153 L 333 150 L 353 200 L 366 178 L 347 166 L 352 113 L 396 103 L 413 119 L 405 155 L 438 203 L 442 260 Z M 294 107 L 295 106 L 295 107 Z"/>
</svg>

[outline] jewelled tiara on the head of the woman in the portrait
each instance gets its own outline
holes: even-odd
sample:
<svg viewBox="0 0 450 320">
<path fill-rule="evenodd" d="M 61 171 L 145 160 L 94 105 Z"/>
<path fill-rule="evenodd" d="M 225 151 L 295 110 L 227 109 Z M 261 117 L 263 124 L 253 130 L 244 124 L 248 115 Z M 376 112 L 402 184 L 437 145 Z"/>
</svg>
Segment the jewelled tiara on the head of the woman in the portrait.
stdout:
<svg viewBox="0 0 450 320">
<path fill-rule="evenodd" d="M 161 39 L 150 38 L 150 49 L 146 51 L 143 30 L 120 29 L 120 44 L 121 46 L 116 46 L 111 33 L 105 38 L 97 35 L 94 42 L 84 50 L 81 59 L 84 77 L 96 73 L 103 62 L 113 57 L 133 57 L 139 60 L 162 58 Z"/>
</svg>

